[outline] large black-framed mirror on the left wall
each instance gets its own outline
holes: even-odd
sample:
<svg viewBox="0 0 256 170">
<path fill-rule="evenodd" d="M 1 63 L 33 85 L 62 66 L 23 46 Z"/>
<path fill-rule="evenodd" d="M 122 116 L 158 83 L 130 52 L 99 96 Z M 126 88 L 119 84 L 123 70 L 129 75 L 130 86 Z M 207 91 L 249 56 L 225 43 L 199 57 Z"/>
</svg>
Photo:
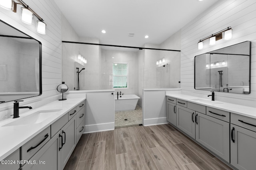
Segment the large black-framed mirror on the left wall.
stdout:
<svg viewBox="0 0 256 170">
<path fill-rule="evenodd" d="M 42 44 L 0 20 L 0 104 L 42 94 Z"/>
</svg>

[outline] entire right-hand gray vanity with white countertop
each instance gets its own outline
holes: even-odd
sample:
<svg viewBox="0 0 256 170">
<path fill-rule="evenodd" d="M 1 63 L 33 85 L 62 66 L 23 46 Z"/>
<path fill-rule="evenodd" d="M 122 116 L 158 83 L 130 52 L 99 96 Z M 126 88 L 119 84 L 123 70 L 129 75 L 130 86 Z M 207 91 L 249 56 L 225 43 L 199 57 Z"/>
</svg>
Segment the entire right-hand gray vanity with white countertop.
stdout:
<svg viewBox="0 0 256 170">
<path fill-rule="evenodd" d="M 239 170 L 255 168 L 255 108 L 166 94 L 166 118 L 182 133 Z"/>
</svg>

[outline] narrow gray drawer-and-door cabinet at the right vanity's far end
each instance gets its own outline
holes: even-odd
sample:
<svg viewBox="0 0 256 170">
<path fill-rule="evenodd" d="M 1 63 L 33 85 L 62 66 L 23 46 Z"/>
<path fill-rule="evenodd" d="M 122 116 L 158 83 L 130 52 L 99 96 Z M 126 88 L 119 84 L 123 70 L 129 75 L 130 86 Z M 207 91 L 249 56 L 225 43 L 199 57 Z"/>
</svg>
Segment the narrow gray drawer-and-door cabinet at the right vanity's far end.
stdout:
<svg viewBox="0 0 256 170">
<path fill-rule="evenodd" d="M 176 126 L 176 99 L 166 97 L 166 119 Z"/>
</svg>

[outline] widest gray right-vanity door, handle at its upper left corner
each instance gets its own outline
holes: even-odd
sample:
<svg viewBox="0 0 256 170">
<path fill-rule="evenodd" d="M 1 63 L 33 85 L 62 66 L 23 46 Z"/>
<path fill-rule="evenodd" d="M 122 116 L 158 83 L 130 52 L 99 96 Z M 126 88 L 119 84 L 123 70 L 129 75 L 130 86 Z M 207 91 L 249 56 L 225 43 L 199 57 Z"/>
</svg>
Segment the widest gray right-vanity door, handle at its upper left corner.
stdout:
<svg viewBox="0 0 256 170">
<path fill-rule="evenodd" d="M 229 123 L 196 112 L 196 141 L 229 162 Z"/>
</svg>

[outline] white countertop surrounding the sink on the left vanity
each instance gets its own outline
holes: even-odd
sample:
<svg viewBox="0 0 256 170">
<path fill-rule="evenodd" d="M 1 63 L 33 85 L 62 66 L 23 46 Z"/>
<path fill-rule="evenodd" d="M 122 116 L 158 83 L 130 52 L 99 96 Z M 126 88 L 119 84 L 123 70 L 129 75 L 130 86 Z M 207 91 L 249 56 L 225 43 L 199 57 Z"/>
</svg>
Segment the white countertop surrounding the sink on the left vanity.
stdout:
<svg viewBox="0 0 256 170">
<path fill-rule="evenodd" d="M 25 113 L 20 114 L 20 117 L 16 119 L 5 119 L 0 122 L 0 160 L 3 160 L 12 152 L 20 148 L 30 139 L 38 135 L 41 131 L 49 127 L 52 123 L 58 120 L 60 117 L 65 115 L 68 111 L 78 105 L 80 102 L 84 101 L 85 97 L 79 98 L 68 98 L 63 101 L 55 101 L 50 104 L 46 104 L 42 107 L 36 109 L 31 109 Z M 48 119 L 42 121 L 41 123 L 29 124 L 29 125 L 15 125 L 15 126 L 4 126 L 12 121 L 16 121 L 27 115 L 31 115 L 37 111 L 41 110 L 56 110 L 60 111 L 54 112 L 54 115 Z"/>
</svg>

